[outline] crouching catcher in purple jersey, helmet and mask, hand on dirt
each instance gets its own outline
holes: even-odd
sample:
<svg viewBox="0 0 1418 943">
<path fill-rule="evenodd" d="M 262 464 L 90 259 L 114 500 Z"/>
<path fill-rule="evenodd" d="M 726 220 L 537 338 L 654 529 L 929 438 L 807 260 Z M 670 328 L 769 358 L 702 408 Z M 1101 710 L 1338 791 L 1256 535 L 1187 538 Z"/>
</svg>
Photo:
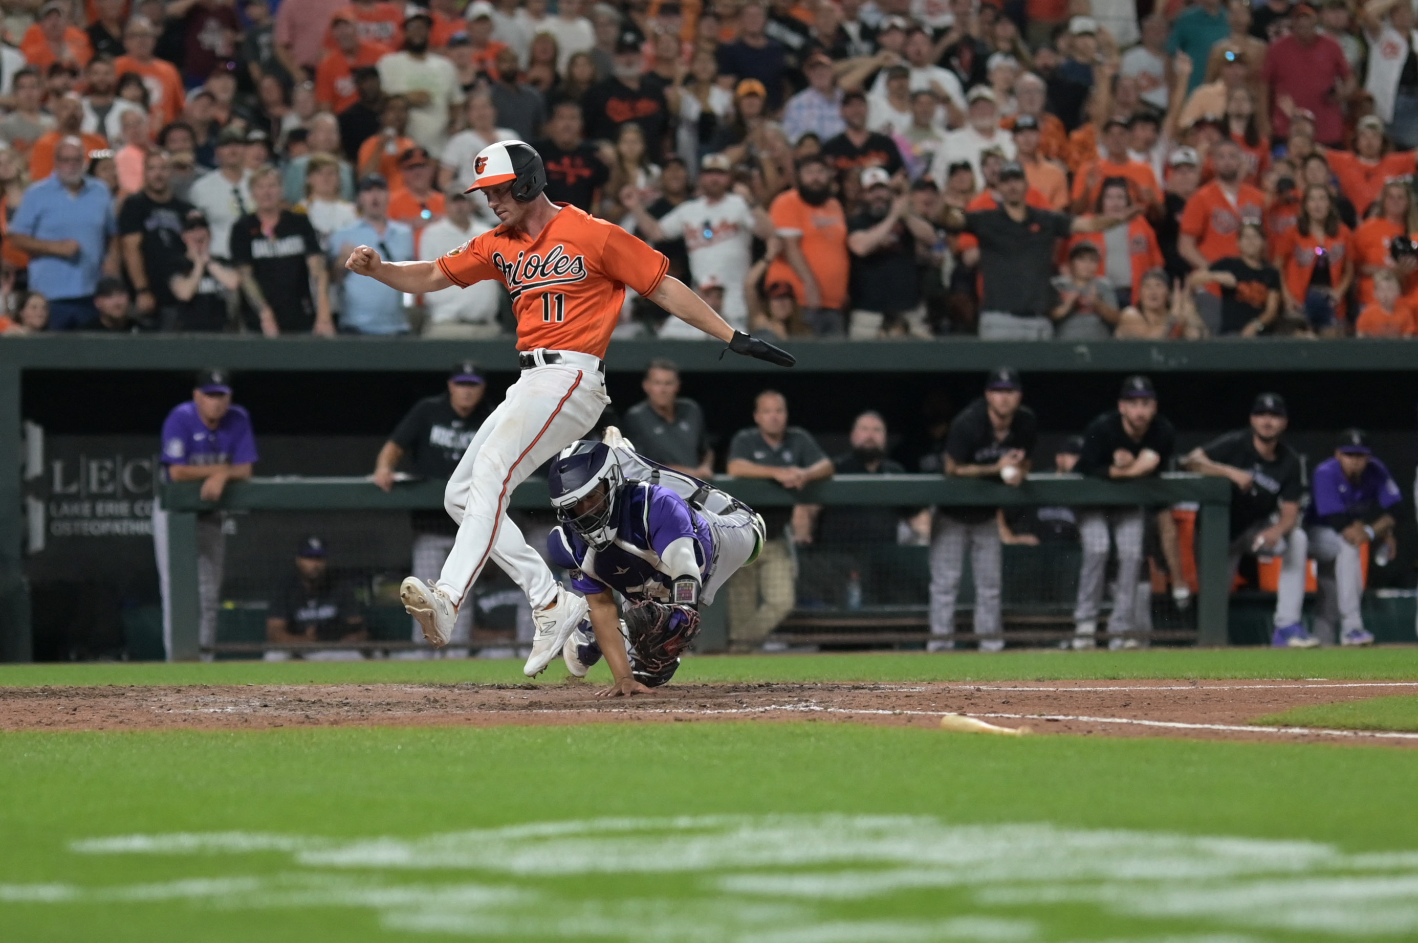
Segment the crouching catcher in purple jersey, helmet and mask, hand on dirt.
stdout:
<svg viewBox="0 0 1418 943">
<path fill-rule="evenodd" d="M 608 430 L 614 442 L 618 433 Z M 627 447 L 580 441 L 552 462 L 547 485 L 562 522 L 547 537 L 553 563 L 590 607 L 562 649 L 576 676 L 604 655 L 605 696 L 649 693 L 668 682 L 699 632 L 699 604 L 763 546 L 763 518 L 698 478 Z M 614 593 L 628 603 L 624 620 Z"/>
</svg>

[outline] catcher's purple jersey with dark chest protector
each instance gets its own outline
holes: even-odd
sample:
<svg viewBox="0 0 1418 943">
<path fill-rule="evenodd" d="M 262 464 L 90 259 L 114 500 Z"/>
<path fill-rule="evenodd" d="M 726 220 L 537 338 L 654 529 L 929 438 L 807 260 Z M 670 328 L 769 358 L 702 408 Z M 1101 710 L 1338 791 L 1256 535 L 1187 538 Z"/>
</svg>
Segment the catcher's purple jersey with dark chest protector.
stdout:
<svg viewBox="0 0 1418 943">
<path fill-rule="evenodd" d="M 577 593 L 613 588 L 630 600 L 668 604 L 674 574 L 662 557 L 676 540 L 693 547 L 699 580 L 706 583 L 715 554 L 708 522 L 668 488 L 631 482 L 615 493 L 614 543 L 594 550 L 574 530 L 560 526 L 552 530 L 546 545 L 552 562 L 571 571 L 571 587 Z"/>
</svg>

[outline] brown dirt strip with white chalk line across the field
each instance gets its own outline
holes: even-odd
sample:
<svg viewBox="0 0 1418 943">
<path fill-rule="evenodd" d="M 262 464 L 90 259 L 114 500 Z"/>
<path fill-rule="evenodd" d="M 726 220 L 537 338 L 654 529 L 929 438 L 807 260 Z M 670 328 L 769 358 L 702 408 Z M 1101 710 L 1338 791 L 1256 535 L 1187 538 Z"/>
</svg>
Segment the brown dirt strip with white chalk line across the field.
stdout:
<svg viewBox="0 0 1418 943">
<path fill-rule="evenodd" d="M 0 730 L 259 730 L 301 726 L 815 720 L 933 727 L 966 713 L 1034 733 L 1364 742 L 1418 733 L 1249 727 L 1314 703 L 1418 693 L 1418 682 L 1090 681 L 671 685 L 607 701 L 563 685 L 0 688 Z"/>
</svg>

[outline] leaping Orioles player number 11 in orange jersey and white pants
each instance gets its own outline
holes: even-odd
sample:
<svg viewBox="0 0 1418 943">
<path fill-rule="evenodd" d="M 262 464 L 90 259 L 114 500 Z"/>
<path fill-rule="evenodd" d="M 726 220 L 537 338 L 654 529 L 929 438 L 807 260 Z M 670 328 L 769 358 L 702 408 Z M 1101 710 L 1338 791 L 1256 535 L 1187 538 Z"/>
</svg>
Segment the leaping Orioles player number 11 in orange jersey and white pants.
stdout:
<svg viewBox="0 0 1418 943">
<path fill-rule="evenodd" d="M 502 225 L 432 262 L 386 262 L 367 245 L 345 267 L 411 295 L 495 278 L 508 286 L 518 320 L 520 379 L 482 424 L 448 481 L 444 506 L 458 537 L 437 583 L 404 580 L 400 596 L 424 637 L 445 645 L 458 604 L 488 560 L 516 580 L 532 603 L 536 635 L 523 668 L 535 676 L 562 652 L 587 604 L 552 577 L 508 519 L 512 491 L 571 442 L 610 403 L 601 357 L 620 320 L 625 286 L 735 353 L 790 367 L 793 356 L 735 330 L 683 282 L 669 261 L 621 227 L 542 193 L 542 157 L 520 140 L 485 147 L 469 190 L 482 190 Z"/>
</svg>

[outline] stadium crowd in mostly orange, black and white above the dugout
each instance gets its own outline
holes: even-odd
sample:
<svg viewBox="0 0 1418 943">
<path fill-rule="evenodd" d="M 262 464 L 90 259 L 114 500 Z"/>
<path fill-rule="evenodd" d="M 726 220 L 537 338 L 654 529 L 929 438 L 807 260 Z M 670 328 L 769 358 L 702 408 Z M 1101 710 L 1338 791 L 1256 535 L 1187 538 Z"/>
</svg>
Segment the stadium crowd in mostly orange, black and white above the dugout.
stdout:
<svg viewBox="0 0 1418 943">
<path fill-rule="evenodd" d="M 519 138 L 760 335 L 1412 336 L 1414 11 L 1319 6 L 4 0 L 0 332 L 510 333 L 343 261 Z"/>
</svg>

